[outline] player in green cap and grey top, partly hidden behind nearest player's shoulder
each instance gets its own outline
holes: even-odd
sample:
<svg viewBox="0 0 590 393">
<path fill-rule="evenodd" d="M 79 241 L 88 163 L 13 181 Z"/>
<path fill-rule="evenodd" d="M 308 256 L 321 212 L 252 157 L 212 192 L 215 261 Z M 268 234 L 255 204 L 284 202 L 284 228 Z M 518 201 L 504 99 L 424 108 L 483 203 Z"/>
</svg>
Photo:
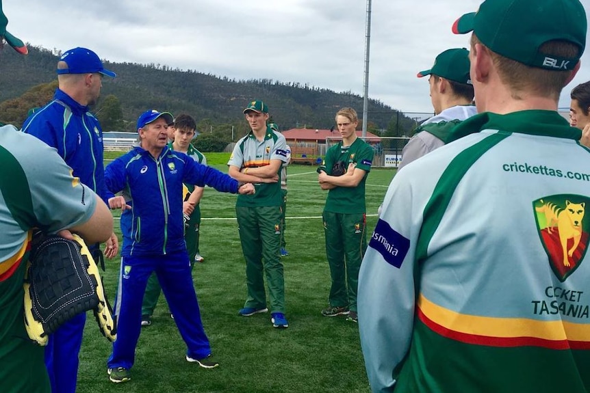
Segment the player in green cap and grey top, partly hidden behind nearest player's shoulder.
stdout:
<svg viewBox="0 0 590 393">
<path fill-rule="evenodd" d="M 435 116 L 416 128 L 415 134 L 404 146 L 398 170 L 443 146 L 454 126 L 477 113 L 472 105 L 473 85 L 469 66 L 467 49 L 447 49 L 436 57 L 430 70 L 418 72 L 418 78 L 430 76 L 428 84 Z"/>
</svg>

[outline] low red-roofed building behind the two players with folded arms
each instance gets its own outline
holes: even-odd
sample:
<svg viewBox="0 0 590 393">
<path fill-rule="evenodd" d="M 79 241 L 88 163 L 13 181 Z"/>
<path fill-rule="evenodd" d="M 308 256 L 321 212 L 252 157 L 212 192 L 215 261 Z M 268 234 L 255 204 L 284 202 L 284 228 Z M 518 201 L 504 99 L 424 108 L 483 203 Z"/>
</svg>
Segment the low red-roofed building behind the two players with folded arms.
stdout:
<svg viewBox="0 0 590 393">
<path fill-rule="evenodd" d="M 318 158 L 324 157 L 330 146 L 342 139 L 337 130 L 317 128 L 291 128 L 281 133 L 291 148 L 292 161 L 302 163 L 316 163 Z M 363 131 L 357 131 L 357 135 L 362 137 Z M 365 141 L 373 147 L 381 144 L 381 138 L 369 132 Z"/>
</svg>

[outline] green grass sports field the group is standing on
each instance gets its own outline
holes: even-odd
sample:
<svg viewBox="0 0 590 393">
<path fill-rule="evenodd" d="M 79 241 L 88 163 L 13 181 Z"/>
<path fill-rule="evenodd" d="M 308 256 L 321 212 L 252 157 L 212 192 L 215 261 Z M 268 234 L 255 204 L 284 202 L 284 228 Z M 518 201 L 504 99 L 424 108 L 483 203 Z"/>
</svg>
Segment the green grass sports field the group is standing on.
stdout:
<svg viewBox="0 0 590 393">
<path fill-rule="evenodd" d="M 120 153 L 109 152 L 106 159 Z M 229 154 L 207 154 L 207 161 L 227 172 Z M 246 297 L 235 195 L 205 189 L 201 201 L 201 254 L 193 279 L 203 325 L 220 367 L 205 370 L 185 361 L 185 344 L 170 319 L 164 297 L 153 323 L 142 328 L 131 381 L 108 380 L 111 344 L 89 314 L 80 353 L 79 393 L 110 392 L 369 392 L 358 325 L 344 317 L 326 318 L 330 288 L 320 216 L 326 191 L 317 183 L 316 167 L 288 169 L 285 299 L 288 329 L 274 329 L 270 314 L 238 316 Z M 368 236 L 376 223 L 392 170 L 372 170 L 367 180 Z M 305 217 L 305 218 L 303 218 Z M 118 220 L 115 222 L 118 229 Z M 119 232 L 120 235 L 120 232 Z M 104 281 L 113 297 L 119 258 L 107 261 Z"/>
</svg>

